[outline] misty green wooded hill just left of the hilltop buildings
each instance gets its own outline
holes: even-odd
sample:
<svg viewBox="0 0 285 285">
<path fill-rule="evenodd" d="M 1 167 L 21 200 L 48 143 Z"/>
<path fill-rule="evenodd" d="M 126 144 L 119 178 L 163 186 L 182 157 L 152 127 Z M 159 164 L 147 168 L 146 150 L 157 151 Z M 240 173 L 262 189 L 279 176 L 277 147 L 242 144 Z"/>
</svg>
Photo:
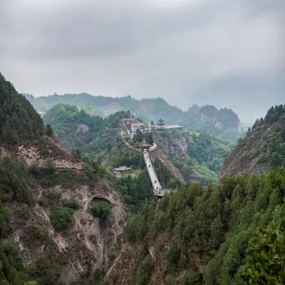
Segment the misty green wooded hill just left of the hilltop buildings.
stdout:
<svg viewBox="0 0 285 285">
<path fill-rule="evenodd" d="M 124 111 L 102 118 L 90 113 L 90 109 L 79 110 L 76 105 L 57 104 L 43 116 L 43 122 L 51 125 L 54 134 L 70 149 L 78 149 L 93 157 L 115 145 L 121 134 L 120 118 L 130 113 Z"/>
</svg>

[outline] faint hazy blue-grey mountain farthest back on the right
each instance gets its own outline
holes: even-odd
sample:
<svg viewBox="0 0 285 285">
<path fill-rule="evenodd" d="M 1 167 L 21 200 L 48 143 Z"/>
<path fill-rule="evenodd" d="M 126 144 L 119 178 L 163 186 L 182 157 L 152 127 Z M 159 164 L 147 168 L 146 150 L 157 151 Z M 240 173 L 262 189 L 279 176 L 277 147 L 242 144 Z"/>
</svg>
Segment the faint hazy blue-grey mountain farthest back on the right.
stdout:
<svg viewBox="0 0 285 285">
<path fill-rule="evenodd" d="M 254 123 L 271 105 L 284 103 L 285 68 L 235 68 L 222 73 L 207 84 L 181 96 L 179 100 L 198 105 L 232 108 L 243 122 Z"/>
</svg>

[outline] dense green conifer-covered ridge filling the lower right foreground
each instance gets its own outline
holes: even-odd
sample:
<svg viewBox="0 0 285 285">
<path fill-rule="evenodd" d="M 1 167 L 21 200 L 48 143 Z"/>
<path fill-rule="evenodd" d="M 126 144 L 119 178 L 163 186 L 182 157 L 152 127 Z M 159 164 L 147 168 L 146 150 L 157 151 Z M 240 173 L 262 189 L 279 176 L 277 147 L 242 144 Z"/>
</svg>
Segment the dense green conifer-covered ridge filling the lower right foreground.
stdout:
<svg viewBox="0 0 285 285">
<path fill-rule="evenodd" d="M 284 189 L 281 169 L 187 184 L 145 204 L 108 284 L 284 284 Z"/>
</svg>

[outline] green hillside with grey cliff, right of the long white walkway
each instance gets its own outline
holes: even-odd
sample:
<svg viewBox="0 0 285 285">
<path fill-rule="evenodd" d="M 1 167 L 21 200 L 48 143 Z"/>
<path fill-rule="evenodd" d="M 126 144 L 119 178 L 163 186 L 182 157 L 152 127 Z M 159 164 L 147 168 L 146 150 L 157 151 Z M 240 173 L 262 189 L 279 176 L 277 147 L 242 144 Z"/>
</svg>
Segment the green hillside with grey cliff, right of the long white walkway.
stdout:
<svg viewBox="0 0 285 285">
<path fill-rule="evenodd" d="M 180 170 L 186 182 L 202 185 L 217 184 L 224 157 L 234 147 L 228 140 L 206 132 L 157 131 L 152 136 L 158 147 Z"/>
</svg>

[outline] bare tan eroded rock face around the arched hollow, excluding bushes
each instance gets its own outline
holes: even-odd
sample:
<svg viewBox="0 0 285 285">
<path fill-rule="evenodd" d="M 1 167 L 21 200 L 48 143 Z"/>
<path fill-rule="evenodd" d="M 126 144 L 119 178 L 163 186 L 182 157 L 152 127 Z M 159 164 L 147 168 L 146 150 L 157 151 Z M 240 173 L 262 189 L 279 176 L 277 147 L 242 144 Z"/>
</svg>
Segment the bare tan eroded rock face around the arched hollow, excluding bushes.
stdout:
<svg viewBox="0 0 285 285">
<path fill-rule="evenodd" d="M 100 181 L 94 187 L 77 184 L 72 187 L 56 185 L 52 188 L 44 188 L 36 182 L 33 184 L 33 194 L 38 202 L 28 210 L 29 218 L 20 224 L 18 220 L 16 230 L 6 239 L 6 242 L 19 245 L 21 256 L 27 264 L 41 254 L 51 252 L 58 262 L 66 258 L 61 271 L 63 284 L 71 284 L 83 272 L 108 267 L 115 256 L 116 242 L 123 234 L 128 213 L 118 193 L 106 181 Z M 72 227 L 64 232 L 53 229 L 49 219 L 51 207 L 43 203 L 47 197 L 53 197 L 58 205 L 64 199 L 76 199 L 80 208 L 73 213 Z M 102 222 L 88 212 L 91 204 L 100 202 L 108 202 L 111 206 L 112 215 L 108 221 Z M 32 241 L 31 228 L 35 226 L 41 226 L 48 237 Z"/>
</svg>

